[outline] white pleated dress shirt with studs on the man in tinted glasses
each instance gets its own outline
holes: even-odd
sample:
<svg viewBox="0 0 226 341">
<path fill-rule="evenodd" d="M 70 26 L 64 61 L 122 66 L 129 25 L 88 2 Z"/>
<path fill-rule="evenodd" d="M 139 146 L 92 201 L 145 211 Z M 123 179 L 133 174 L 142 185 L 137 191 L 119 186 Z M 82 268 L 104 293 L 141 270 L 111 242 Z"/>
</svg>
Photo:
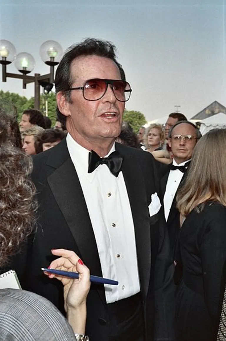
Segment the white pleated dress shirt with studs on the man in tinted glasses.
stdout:
<svg viewBox="0 0 226 341">
<path fill-rule="evenodd" d="M 118 286 L 104 284 L 106 301 L 112 303 L 135 295 L 140 291 L 136 243 L 123 174 L 115 177 L 105 164 L 88 174 L 89 150 L 69 133 L 66 142 L 86 200 L 103 277 L 119 282 Z M 113 151 L 115 145 L 109 154 Z"/>
</svg>

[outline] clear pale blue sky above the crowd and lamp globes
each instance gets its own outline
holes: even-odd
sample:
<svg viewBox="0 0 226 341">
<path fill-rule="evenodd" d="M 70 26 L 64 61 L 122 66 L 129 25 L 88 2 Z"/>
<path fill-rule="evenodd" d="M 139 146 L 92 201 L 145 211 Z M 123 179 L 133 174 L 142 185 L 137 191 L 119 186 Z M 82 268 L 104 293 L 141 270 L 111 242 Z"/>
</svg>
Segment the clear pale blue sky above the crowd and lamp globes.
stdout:
<svg viewBox="0 0 226 341">
<path fill-rule="evenodd" d="M 83 38 L 112 41 L 133 89 L 129 110 L 147 120 L 181 105 L 188 118 L 214 100 L 226 106 L 226 0 L 0 0 L 0 38 L 48 73 L 39 48 L 56 40 L 63 50 Z M 17 72 L 14 65 L 8 72 Z M 28 98 L 33 85 L 7 79 L 4 91 Z"/>
</svg>

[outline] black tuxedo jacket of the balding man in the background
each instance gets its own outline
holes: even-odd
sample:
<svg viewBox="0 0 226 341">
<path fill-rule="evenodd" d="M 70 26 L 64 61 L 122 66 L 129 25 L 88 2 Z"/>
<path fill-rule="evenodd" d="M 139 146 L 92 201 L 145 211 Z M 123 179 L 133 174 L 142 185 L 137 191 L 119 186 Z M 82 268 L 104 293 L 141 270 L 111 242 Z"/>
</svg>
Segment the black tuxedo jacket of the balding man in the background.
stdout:
<svg viewBox="0 0 226 341">
<path fill-rule="evenodd" d="M 166 184 L 168 181 L 169 172 L 170 172 L 170 165 L 164 165 L 164 167 L 161 168 L 160 186 L 161 186 L 162 204 L 163 204 L 163 198 L 164 198 L 165 191 L 166 191 Z M 176 197 L 177 197 L 177 192 L 181 188 L 185 178 L 186 178 L 186 172 L 183 174 L 183 177 L 180 181 L 180 184 L 178 186 L 178 189 L 172 201 L 168 219 L 166 221 L 168 235 L 169 235 L 169 243 L 170 243 L 170 248 L 172 250 L 173 256 L 175 255 L 175 252 L 176 252 L 177 242 L 178 242 L 178 233 L 180 229 L 180 212 L 177 209 Z"/>
</svg>

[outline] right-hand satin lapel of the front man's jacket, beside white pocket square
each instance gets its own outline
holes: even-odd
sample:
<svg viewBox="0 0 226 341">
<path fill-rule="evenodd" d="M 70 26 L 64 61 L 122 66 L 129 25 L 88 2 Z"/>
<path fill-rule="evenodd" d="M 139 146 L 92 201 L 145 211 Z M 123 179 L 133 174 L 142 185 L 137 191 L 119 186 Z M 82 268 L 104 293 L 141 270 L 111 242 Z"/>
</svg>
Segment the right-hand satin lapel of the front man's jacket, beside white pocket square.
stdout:
<svg viewBox="0 0 226 341">
<path fill-rule="evenodd" d="M 140 288 L 143 297 L 146 297 L 151 270 L 151 241 L 145 182 L 139 164 L 135 164 L 120 147 L 117 149 L 123 156 L 122 173 L 134 222 Z"/>
</svg>

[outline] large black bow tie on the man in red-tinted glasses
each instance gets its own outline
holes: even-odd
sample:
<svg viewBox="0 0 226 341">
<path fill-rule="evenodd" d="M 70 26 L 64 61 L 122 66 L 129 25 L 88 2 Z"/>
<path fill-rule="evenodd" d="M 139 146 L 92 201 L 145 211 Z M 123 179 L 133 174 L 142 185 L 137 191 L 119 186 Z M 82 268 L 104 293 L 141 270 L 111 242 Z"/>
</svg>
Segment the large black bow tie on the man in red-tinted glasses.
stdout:
<svg viewBox="0 0 226 341">
<path fill-rule="evenodd" d="M 107 158 L 100 158 L 94 150 L 91 150 L 91 153 L 89 153 L 88 173 L 92 173 L 99 165 L 105 164 L 111 173 L 117 177 L 122 167 L 122 161 L 123 157 L 117 151 L 112 152 Z"/>
</svg>

